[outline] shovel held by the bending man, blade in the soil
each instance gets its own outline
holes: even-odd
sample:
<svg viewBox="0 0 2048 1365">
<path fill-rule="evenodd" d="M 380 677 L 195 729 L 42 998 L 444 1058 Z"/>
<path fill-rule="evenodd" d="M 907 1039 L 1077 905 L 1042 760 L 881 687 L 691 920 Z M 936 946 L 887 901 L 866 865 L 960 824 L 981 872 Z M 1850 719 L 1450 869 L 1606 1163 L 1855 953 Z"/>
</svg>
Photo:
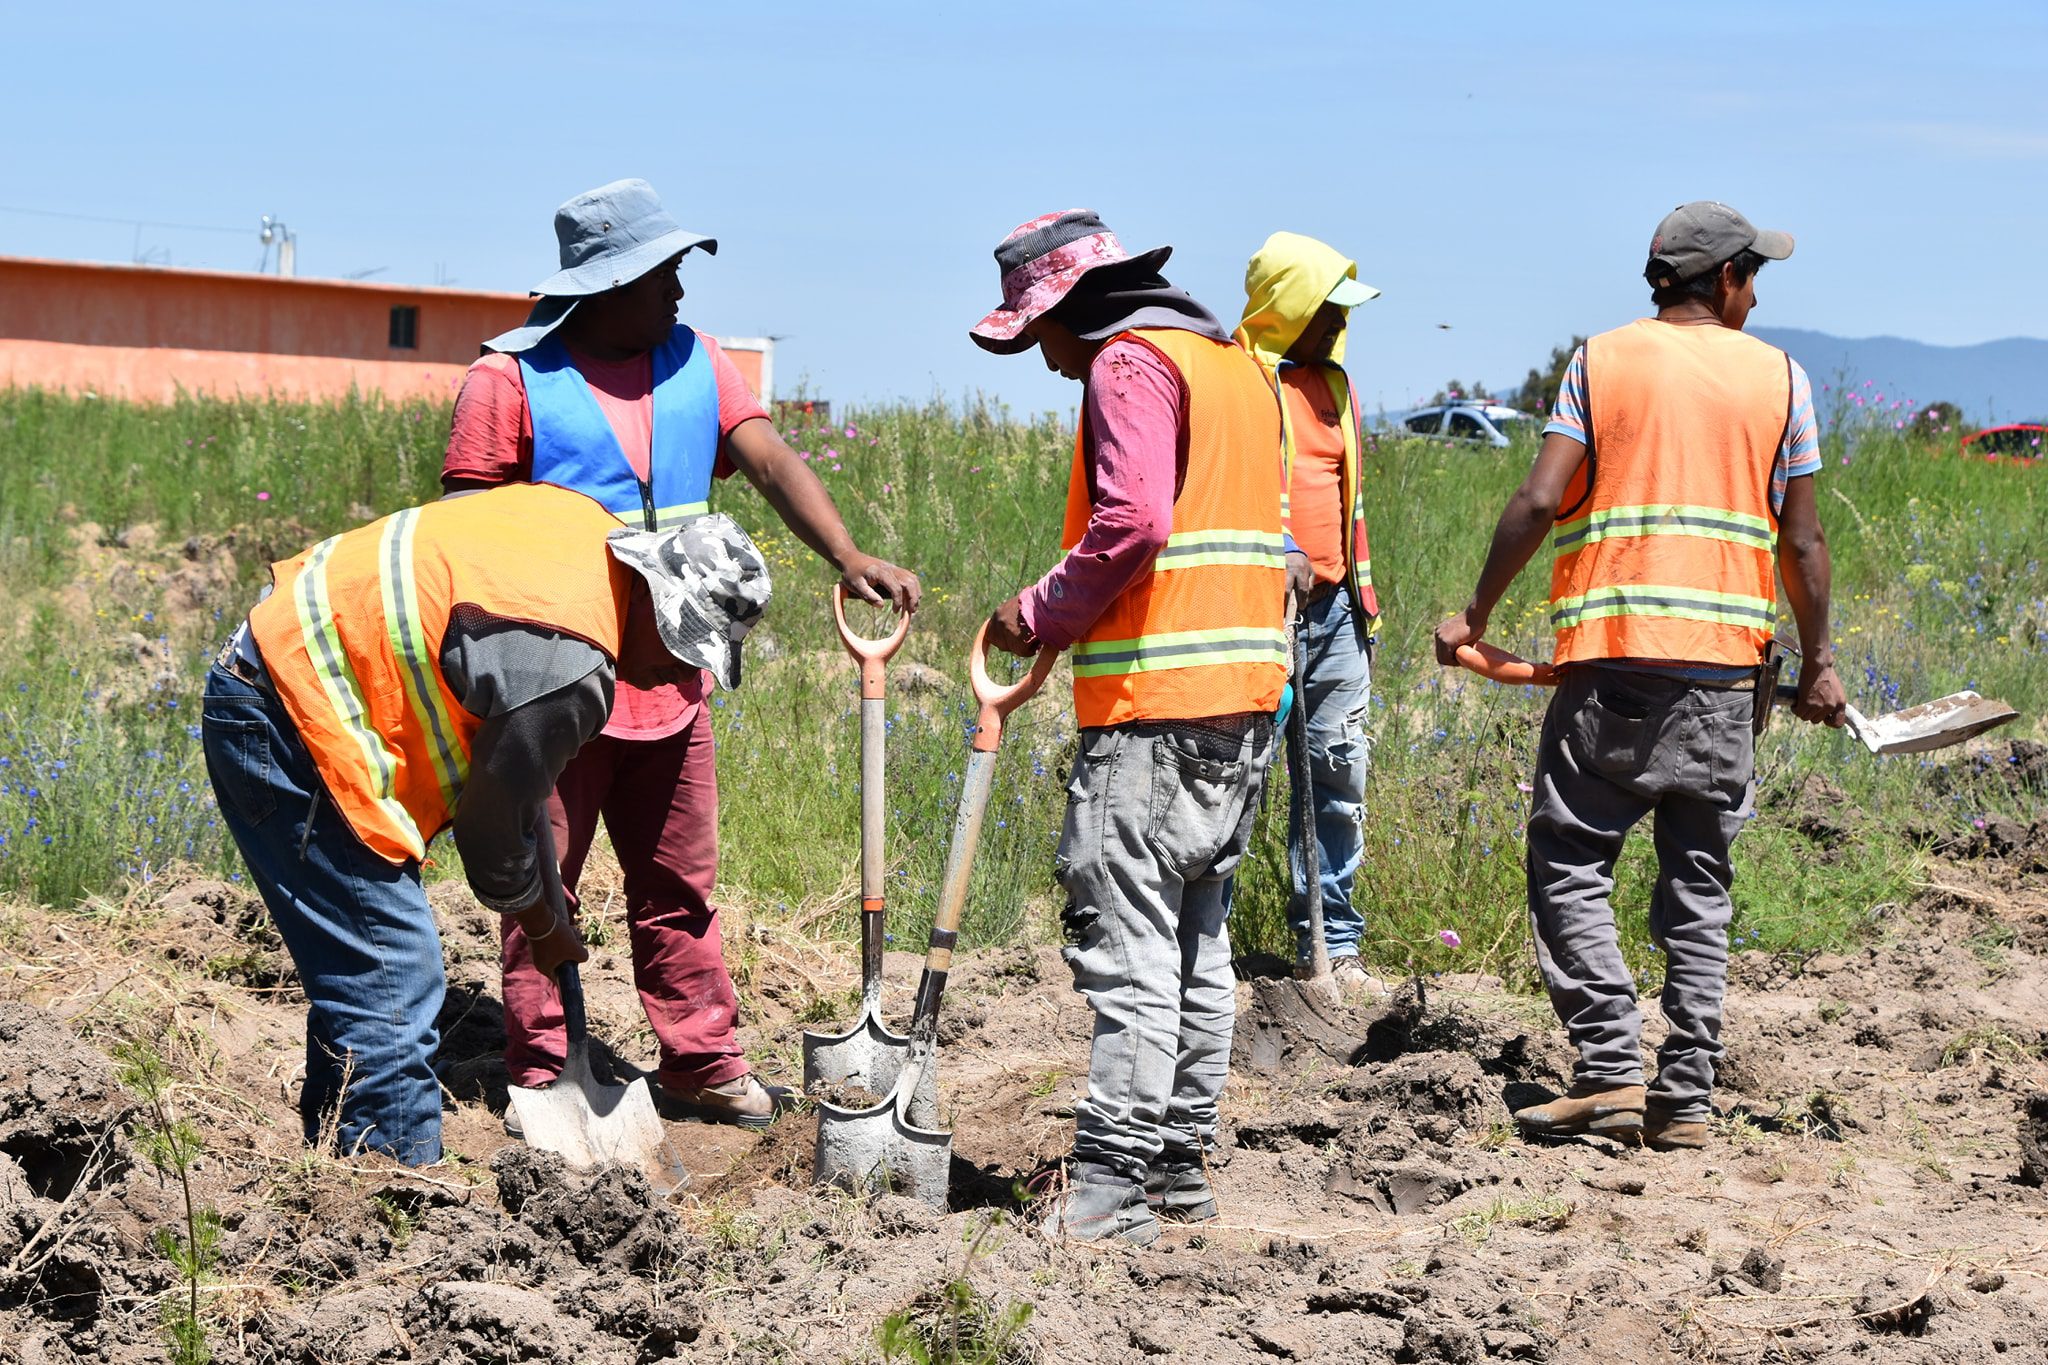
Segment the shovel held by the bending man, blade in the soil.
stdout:
<svg viewBox="0 0 2048 1365">
<path fill-rule="evenodd" d="M 555 862 L 555 831 L 547 810 L 535 829 L 541 843 L 541 888 L 557 919 L 567 919 L 561 894 L 561 864 Z M 555 972 L 561 988 L 561 1021 L 569 1036 L 569 1056 L 551 1085 L 510 1087 L 512 1113 L 518 1115 L 526 1146 L 557 1152 L 571 1169 L 588 1171 L 616 1162 L 649 1169 L 662 1148 L 662 1115 L 653 1111 L 647 1078 L 633 1085 L 604 1085 L 590 1070 L 590 1023 L 584 1019 L 584 980 L 573 962 Z M 676 1175 L 672 1162 L 662 1162 Z"/>
</svg>

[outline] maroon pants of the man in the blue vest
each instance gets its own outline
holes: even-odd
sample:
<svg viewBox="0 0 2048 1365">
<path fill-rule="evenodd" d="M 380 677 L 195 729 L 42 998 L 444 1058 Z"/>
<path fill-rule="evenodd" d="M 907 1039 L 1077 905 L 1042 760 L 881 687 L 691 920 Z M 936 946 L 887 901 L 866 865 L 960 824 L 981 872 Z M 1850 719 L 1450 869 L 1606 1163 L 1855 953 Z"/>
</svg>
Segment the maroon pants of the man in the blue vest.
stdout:
<svg viewBox="0 0 2048 1365">
<path fill-rule="evenodd" d="M 739 999 L 719 948 L 711 886 L 719 872 L 719 778 L 711 716 L 668 739 L 600 735 L 561 772 L 549 817 L 561 882 L 573 894 L 598 817 L 627 882 L 633 984 L 662 1044 L 670 1089 L 723 1085 L 748 1072 L 739 1054 Z M 512 1085 L 547 1085 L 567 1040 L 555 982 L 526 952 L 526 933 L 504 917 L 506 1070 Z"/>
</svg>

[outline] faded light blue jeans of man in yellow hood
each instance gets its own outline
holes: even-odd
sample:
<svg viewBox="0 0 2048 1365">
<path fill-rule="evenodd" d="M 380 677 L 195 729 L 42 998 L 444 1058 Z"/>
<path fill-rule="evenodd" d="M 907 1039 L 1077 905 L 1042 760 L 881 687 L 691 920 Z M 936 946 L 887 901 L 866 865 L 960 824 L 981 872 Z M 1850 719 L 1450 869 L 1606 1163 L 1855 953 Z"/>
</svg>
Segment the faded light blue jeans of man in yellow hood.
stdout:
<svg viewBox="0 0 2048 1365">
<path fill-rule="evenodd" d="M 1366 765 L 1372 737 L 1366 706 L 1372 700 L 1372 655 L 1358 643 L 1354 593 L 1346 587 L 1303 612 L 1309 679 L 1294 704 L 1309 708 L 1309 794 L 1315 806 L 1315 843 L 1323 862 L 1323 943 L 1331 958 L 1358 954 L 1366 917 L 1354 902 L 1358 864 L 1366 851 Z M 1307 966 L 1309 882 L 1298 851 L 1288 845 L 1294 894 L 1288 923 L 1294 956 Z"/>
</svg>

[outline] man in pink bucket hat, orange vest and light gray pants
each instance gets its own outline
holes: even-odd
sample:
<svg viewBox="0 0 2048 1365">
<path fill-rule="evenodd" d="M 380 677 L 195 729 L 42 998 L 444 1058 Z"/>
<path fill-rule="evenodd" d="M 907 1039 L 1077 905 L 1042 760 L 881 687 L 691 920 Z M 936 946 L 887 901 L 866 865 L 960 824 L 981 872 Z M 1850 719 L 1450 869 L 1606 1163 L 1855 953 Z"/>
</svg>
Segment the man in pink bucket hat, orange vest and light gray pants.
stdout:
<svg viewBox="0 0 2048 1365">
<path fill-rule="evenodd" d="M 1214 313 L 1087 209 L 995 248 L 977 346 L 1085 385 L 1067 551 L 989 643 L 1071 651 L 1079 749 L 1055 868 L 1087 1097 L 1044 1230 L 1145 1244 L 1217 1218 L 1206 1150 L 1231 1066 L 1225 927 L 1286 686 L 1280 411 Z M 1307 579 L 1307 561 L 1298 565 Z"/>
</svg>

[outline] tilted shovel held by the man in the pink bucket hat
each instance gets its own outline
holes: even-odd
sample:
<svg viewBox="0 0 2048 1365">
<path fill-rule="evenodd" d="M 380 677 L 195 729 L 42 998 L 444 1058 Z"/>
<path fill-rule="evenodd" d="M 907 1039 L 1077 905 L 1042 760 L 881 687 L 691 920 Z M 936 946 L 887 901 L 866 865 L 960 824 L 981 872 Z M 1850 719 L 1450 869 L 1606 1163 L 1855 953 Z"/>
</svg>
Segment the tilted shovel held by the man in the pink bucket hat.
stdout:
<svg viewBox="0 0 2048 1365">
<path fill-rule="evenodd" d="M 952 1175 L 952 1134 L 938 1128 L 936 1103 L 938 997 L 946 990 L 952 945 L 961 937 L 961 909 L 967 905 L 975 845 L 981 841 L 981 817 L 989 806 L 989 786 L 995 780 L 995 747 L 1004 739 L 1004 718 L 1038 692 L 1059 657 L 1051 649 L 1038 651 L 1030 673 L 1001 688 L 987 671 L 987 622 L 983 622 L 967 659 L 981 714 L 967 755 L 967 782 L 961 784 L 961 810 L 952 821 L 952 845 L 946 849 L 946 878 L 938 890 L 932 943 L 924 958 L 924 976 L 918 980 L 909 1052 L 895 1085 L 881 1103 L 866 1109 L 844 1109 L 829 1101 L 817 1105 L 815 1173 L 821 1185 L 893 1189 L 922 1199 L 934 1209 L 946 1207 L 946 1187 Z"/>
</svg>

